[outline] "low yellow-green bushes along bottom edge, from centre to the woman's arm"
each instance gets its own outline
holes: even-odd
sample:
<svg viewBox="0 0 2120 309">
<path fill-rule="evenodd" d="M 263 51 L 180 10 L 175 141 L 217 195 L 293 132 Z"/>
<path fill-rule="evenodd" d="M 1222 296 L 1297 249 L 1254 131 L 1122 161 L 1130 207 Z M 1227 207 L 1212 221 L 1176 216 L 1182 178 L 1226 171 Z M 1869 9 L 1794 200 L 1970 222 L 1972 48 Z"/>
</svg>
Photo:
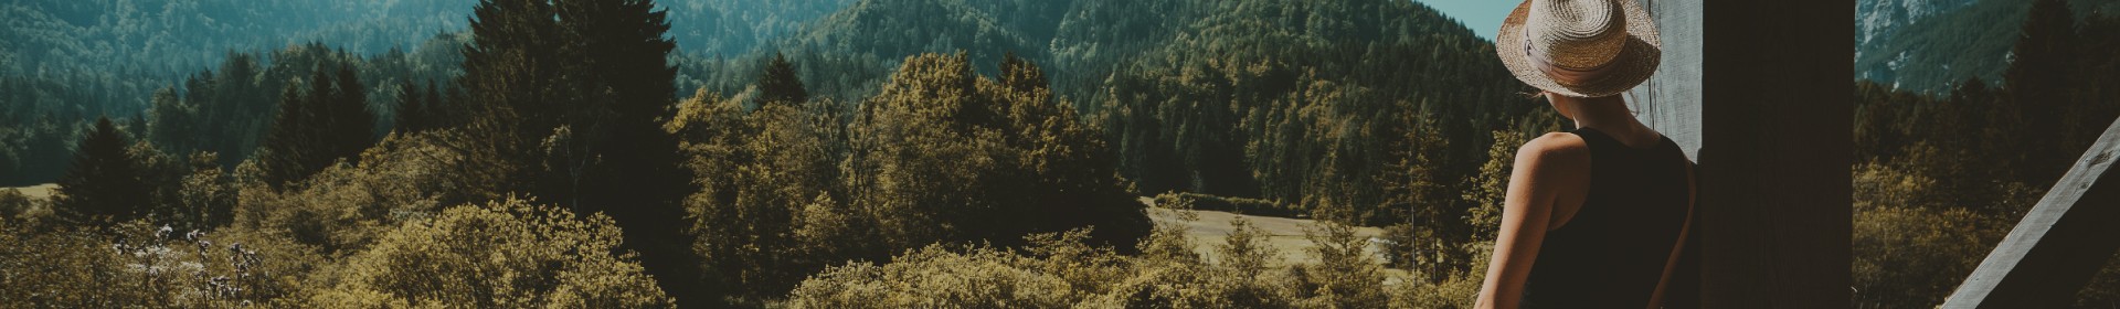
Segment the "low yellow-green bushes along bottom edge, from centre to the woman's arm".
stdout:
<svg viewBox="0 0 2120 309">
<path fill-rule="evenodd" d="M 1317 262 L 1283 265 L 1247 222 L 1232 222 L 1219 258 L 1191 250 L 1183 224 L 1158 226 L 1117 254 L 1088 231 L 1026 237 L 1028 248 L 929 246 L 888 265 L 831 267 L 795 288 L 789 307 L 1469 307 L 1478 277 L 1416 286 L 1382 273 L 1346 224 L 1319 224 Z M 1397 281 L 1397 284 L 1391 284 Z M 1450 298 L 1456 296 L 1456 298 Z"/>
</svg>

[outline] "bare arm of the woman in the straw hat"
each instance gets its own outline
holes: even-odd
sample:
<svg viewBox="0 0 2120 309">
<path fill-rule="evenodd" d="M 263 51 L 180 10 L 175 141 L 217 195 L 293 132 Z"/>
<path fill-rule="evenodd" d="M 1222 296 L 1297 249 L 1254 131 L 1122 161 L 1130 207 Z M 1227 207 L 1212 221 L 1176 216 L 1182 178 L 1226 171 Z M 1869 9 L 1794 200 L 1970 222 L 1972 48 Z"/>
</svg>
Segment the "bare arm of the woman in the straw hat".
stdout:
<svg viewBox="0 0 2120 309">
<path fill-rule="evenodd" d="M 1516 150 L 1509 190 L 1501 210 L 1501 233 L 1480 284 L 1482 309 L 1514 309 L 1522 301 L 1524 279 L 1539 258 L 1539 243 L 1554 224 L 1554 203 L 1565 188 L 1582 190 L 1590 178 L 1590 148 L 1573 133 L 1548 133 Z"/>
</svg>

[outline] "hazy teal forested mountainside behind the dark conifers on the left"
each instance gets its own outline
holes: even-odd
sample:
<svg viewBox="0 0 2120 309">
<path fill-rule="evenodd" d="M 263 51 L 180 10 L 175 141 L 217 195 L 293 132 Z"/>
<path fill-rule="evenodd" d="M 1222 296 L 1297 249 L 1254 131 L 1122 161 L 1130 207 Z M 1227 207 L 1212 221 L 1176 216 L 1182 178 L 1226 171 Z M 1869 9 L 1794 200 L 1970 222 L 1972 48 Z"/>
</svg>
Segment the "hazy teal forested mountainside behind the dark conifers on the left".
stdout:
<svg viewBox="0 0 2120 309">
<path fill-rule="evenodd" d="M 685 59 L 740 55 L 759 42 L 840 11 L 850 0 L 664 4 Z M 456 72 L 475 0 L 248 2 L 248 0 L 25 0 L 0 4 L 0 184 L 51 182 L 66 140 L 98 114 L 131 133 L 155 135 L 148 110 L 191 116 L 197 127 L 161 125 L 176 152 L 214 150 L 233 167 L 250 157 L 288 78 L 305 78 L 307 53 L 343 53 L 379 112 L 377 135 L 396 121 L 407 85 Z M 708 32 L 712 30 L 712 32 Z M 316 42 L 316 44 L 312 44 Z M 282 55 L 303 55 L 286 57 Z M 288 63 L 282 63 L 288 61 Z M 878 74 L 882 74 L 878 70 Z M 441 85 L 435 91 L 447 91 Z M 687 89 L 689 91 L 689 89 Z M 430 93 L 439 95 L 439 93 Z M 208 104 L 208 99 L 216 104 Z"/>
</svg>

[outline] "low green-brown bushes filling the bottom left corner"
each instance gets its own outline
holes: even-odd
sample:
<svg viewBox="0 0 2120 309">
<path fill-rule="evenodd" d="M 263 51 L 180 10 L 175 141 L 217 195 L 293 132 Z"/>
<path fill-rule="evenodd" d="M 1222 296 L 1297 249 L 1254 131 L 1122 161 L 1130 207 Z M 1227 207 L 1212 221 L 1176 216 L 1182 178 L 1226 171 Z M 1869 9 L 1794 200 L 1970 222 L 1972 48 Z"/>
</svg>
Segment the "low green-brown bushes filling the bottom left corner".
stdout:
<svg viewBox="0 0 2120 309">
<path fill-rule="evenodd" d="M 32 307 L 286 307 L 299 292 L 297 277 L 316 260 L 246 233 L 157 229 L 144 220 L 110 229 L 30 231 L 0 222 L 0 298 Z"/>
</svg>

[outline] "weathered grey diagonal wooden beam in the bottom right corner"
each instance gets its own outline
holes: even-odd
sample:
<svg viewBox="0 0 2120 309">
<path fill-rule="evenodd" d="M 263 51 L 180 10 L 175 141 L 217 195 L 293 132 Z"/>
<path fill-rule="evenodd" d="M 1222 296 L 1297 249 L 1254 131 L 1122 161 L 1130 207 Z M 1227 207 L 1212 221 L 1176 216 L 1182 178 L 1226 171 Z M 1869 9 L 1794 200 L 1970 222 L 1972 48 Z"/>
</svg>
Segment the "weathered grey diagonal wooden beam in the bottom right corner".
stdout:
<svg viewBox="0 0 2120 309">
<path fill-rule="evenodd" d="M 1944 298 L 1946 309 L 2067 307 L 2120 250 L 2120 121 Z"/>
</svg>

